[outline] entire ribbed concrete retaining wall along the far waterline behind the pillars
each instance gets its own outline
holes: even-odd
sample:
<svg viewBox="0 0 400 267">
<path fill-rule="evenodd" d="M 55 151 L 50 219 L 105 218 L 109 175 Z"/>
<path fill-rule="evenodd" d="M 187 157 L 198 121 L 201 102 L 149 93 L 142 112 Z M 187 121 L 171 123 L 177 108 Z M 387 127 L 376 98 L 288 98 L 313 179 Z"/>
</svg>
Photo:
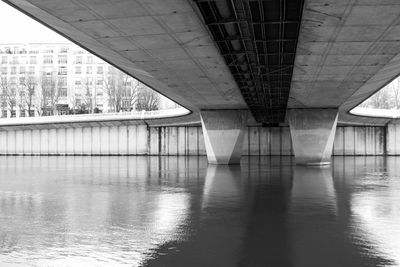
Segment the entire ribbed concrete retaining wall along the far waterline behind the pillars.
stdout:
<svg viewBox="0 0 400 267">
<path fill-rule="evenodd" d="M 400 155 L 400 125 L 339 126 L 334 155 Z M 201 127 L 146 125 L 0 131 L 0 154 L 205 155 Z M 288 127 L 248 127 L 244 155 L 290 156 Z"/>
</svg>

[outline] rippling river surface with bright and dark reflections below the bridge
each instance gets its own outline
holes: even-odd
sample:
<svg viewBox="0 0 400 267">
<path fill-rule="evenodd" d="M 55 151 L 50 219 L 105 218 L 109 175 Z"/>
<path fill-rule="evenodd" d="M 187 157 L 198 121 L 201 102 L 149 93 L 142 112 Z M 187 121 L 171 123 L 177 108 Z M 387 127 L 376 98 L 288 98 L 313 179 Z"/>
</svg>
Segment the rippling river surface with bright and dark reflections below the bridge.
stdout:
<svg viewBox="0 0 400 267">
<path fill-rule="evenodd" d="M 0 157 L 0 266 L 399 266 L 397 166 Z"/>
</svg>

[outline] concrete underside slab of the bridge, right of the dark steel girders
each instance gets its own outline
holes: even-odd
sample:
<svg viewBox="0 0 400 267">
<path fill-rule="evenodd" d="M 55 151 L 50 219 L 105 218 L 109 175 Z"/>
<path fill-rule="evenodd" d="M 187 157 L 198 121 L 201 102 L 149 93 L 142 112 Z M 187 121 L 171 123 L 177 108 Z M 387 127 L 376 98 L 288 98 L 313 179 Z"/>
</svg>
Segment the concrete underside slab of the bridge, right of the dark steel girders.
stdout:
<svg viewBox="0 0 400 267">
<path fill-rule="evenodd" d="M 305 1 L 288 108 L 347 112 L 400 73 L 400 2 Z"/>
</svg>

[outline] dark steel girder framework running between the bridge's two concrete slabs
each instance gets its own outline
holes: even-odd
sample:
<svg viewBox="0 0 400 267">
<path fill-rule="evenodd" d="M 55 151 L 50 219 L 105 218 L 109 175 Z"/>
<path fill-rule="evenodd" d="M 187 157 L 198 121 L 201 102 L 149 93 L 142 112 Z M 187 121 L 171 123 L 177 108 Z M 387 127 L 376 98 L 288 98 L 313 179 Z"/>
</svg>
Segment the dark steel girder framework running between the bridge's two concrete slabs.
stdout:
<svg viewBox="0 0 400 267">
<path fill-rule="evenodd" d="M 256 121 L 283 122 L 303 1 L 195 2 Z"/>
</svg>

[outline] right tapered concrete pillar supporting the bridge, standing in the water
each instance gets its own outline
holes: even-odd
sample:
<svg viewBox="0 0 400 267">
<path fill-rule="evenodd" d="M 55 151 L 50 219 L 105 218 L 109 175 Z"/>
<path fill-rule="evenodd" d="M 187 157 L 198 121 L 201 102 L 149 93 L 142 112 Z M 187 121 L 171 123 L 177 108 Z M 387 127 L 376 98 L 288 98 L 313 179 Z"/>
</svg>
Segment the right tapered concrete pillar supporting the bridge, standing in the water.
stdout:
<svg viewBox="0 0 400 267">
<path fill-rule="evenodd" d="M 337 109 L 289 109 L 290 135 L 296 164 L 330 164 Z"/>
</svg>

